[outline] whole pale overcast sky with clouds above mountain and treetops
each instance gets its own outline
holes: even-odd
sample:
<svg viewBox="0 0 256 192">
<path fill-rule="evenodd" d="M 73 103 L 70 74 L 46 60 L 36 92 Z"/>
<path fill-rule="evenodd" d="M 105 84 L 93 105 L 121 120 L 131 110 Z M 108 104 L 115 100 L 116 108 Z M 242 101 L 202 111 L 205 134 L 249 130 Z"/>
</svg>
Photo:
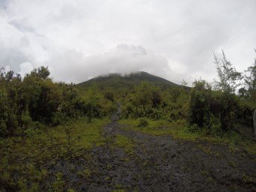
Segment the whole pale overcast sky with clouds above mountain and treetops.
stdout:
<svg viewBox="0 0 256 192">
<path fill-rule="evenodd" d="M 256 0 L 0 0 L 0 66 L 49 66 L 67 83 L 132 71 L 212 80 L 213 52 L 237 71 L 254 62 L 255 10 Z"/>
</svg>

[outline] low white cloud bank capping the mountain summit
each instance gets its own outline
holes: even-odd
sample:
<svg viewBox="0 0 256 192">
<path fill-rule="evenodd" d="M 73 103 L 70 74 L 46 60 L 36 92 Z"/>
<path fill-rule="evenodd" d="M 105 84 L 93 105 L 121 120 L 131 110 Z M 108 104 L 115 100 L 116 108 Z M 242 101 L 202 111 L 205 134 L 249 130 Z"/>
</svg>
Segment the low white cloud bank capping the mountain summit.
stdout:
<svg viewBox="0 0 256 192">
<path fill-rule="evenodd" d="M 109 73 L 130 74 L 147 71 L 163 75 L 169 71 L 167 58 L 152 50 L 133 44 L 119 44 L 108 52 L 98 55 L 83 55 L 77 50 L 54 52 L 48 62 L 53 67 L 53 77 L 80 83 L 89 78 Z M 61 63 L 61 68 L 58 68 Z"/>
</svg>

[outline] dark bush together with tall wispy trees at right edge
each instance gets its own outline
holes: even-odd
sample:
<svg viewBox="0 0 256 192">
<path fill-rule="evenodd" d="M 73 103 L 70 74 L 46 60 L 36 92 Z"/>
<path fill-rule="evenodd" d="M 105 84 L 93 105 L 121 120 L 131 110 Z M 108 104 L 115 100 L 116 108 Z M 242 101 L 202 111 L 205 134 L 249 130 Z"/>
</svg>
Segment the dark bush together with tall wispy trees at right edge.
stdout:
<svg viewBox="0 0 256 192">
<path fill-rule="evenodd" d="M 245 75 L 245 88 L 239 89 L 240 98 L 235 95 L 236 89 L 241 85 L 242 74 L 236 72 L 233 65 L 227 61 L 224 52 L 223 58 L 215 56 L 215 64 L 218 71 L 218 81 L 215 81 L 215 90 L 210 89 L 205 81 L 195 81 L 191 90 L 189 102 L 188 122 L 191 131 L 198 127 L 206 130 L 206 133 L 221 135 L 222 131 L 232 130 L 237 122 L 252 126 L 254 102 L 254 66 L 248 68 L 251 74 Z M 195 126 L 194 124 L 197 124 Z"/>
</svg>

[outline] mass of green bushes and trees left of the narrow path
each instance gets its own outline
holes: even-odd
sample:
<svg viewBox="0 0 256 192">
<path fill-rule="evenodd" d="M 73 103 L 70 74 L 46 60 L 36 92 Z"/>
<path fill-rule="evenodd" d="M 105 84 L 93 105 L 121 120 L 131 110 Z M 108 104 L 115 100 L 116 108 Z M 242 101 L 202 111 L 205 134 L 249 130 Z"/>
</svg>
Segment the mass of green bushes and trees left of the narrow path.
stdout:
<svg viewBox="0 0 256 192">
<path fill-rule="evenodd" d="M 65 124 L 71 118 L 103 118 L 112 107 L 111 95 L 74 84 L 54 83 L 48 68 L 34 69 L 22 79 L 0 68 L 0 137 L 31 135 L 37 124 Z"/>
</svg>

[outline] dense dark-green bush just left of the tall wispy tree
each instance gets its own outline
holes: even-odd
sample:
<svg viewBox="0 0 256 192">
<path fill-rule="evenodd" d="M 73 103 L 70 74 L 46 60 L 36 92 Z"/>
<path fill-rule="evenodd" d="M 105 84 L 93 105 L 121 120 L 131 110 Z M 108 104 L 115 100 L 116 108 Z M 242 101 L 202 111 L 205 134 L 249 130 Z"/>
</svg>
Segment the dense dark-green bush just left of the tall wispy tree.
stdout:
<svg viewBox="0 0 256 192">
<path fill-rule="evenodd" d="M 221 131 L 233 129 L 239 112 L 236 95 L 214 92 L 204 80 L 194 82 L 189 102 L 188 122 L 191 130 L 194 124 L 207 133 L 221 135 Z"/>
</svg>

